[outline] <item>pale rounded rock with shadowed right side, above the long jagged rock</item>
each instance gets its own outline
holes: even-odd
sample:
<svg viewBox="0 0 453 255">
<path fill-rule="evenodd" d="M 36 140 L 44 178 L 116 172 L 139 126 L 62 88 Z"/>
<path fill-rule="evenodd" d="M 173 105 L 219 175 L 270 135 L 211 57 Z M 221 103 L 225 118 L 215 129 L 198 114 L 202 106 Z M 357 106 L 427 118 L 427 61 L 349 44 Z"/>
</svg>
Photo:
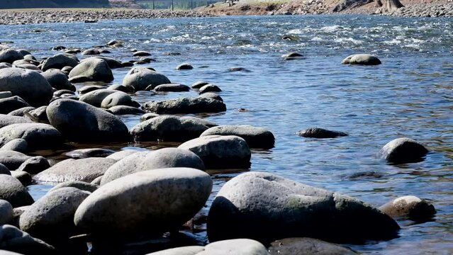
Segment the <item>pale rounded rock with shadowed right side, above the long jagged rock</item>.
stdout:
<svg viewBox="0 0 453 255">
<path fill-rule="evenodd" d="M 171 84 L 172 82 L 163 74 L 152 71 L 145 67 L 134 67 L 130 69 L 123 79 L 123 86 L 132 86 L 135 91 L 142 91 L 152 85 L 152 89 L 160 84 Z"/>
</svg>

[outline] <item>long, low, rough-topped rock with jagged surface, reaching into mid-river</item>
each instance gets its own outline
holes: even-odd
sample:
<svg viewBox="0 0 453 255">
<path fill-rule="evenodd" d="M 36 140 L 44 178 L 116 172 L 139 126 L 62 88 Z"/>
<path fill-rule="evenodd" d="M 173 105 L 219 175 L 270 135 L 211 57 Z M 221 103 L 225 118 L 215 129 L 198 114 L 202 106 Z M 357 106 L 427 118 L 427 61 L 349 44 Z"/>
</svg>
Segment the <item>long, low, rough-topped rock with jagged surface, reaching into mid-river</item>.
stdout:
<svg viewBox="0 0 453 255">
<path fill-rule="evenodd" d="M 150 101 L 143 105 L 152 113 L 218 113 L 226 111 L 225 103 L 211 98 L 174 98 L 163 101 Z"/>
</svg>

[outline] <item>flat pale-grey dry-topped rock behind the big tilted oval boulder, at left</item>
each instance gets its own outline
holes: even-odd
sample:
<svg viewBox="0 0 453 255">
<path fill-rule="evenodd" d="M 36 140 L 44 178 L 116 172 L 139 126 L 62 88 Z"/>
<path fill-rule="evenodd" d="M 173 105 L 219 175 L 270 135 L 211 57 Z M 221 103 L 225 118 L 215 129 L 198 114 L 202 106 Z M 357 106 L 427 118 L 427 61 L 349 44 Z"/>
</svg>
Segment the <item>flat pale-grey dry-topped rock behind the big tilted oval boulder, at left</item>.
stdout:
<svg viewBox="0 0 453 255">
<path fill-rule="evenodd" d="M 91 182 L 104 175 L 116 160 L 106 158 L 66 159 L 33 176 L 35 181 L 60 183 L 65 181 Z"/>
</svg>

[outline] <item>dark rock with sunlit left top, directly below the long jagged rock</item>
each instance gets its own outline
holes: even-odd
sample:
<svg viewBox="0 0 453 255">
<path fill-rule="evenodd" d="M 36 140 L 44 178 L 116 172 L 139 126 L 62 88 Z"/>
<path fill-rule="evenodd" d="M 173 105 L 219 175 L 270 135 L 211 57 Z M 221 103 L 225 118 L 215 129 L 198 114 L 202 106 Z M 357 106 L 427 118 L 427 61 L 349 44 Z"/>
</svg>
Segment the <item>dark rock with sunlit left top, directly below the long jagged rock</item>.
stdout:
<svg viewBox="0 0 453 255">
<path fill-rule="evenodd" d="M 162 115 L 138 123 L 130 130 L 130 135 L 136 141 L 184 142 L 199 137 L 207 129 L 206 125 L 191 120 Z"/>
</svg>

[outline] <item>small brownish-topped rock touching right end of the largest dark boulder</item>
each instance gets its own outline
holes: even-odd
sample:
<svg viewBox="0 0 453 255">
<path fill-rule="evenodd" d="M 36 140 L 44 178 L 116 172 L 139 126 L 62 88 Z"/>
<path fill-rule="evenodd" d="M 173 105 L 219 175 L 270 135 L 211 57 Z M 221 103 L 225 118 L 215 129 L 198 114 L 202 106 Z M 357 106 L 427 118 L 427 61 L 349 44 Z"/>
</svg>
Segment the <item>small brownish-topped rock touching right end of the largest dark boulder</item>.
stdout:
<svg viewBox="0 0 453 255">
<path fill-rule="evenodd" d="M 416 196 L 403 196 L 382 205 L 379 210 L 391 217 L 409 217 L 411 220 L 429 220 L 435 215 L 434 205 Z"/>
</svg>

